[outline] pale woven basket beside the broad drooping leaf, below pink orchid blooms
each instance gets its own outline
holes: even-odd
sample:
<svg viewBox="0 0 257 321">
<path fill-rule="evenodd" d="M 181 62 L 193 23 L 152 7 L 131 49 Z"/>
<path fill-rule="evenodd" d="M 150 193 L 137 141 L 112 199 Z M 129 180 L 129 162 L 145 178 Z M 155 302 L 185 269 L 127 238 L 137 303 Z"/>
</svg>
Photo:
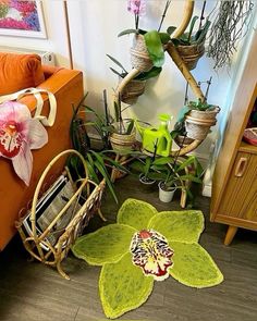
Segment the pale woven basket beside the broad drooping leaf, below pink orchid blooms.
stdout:
<svg viewBox="0 0 257 321">
<path fill-rule="evenodd" d="M 133 39 L 131 48 L 131 64 L 140 72 L 148 72 L 154 64 L 146 48 L 144 36 L 136 35 Z"/>
</svg>

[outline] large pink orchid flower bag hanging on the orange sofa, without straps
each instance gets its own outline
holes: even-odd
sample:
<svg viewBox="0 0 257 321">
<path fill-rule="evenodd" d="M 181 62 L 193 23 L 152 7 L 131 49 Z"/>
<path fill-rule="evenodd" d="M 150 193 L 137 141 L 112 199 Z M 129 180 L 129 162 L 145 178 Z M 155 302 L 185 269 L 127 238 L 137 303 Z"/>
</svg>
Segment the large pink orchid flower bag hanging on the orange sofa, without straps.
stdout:
<svg viewBox="0 0 257 321">
<path fill-rule="evenodd" d="M 25 104 L 14 101 L 0 104 L 0 156 L 12 160 L 14 171 L 27 186 L 33 169 L 30 149 L 47 143 L 47 131 L 32 118 Z"/>
</svg>

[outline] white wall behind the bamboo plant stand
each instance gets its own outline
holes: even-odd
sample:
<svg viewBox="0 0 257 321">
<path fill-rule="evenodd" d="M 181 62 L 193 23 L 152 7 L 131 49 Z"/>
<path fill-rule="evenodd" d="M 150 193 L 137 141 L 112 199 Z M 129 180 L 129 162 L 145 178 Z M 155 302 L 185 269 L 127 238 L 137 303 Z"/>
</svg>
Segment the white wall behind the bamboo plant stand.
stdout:
<svg viewBox="0 0 257 321">
<path fill-rule="evenodd" d="M 32 39 L 0 36 L 0 44 L 4 46 L 28 47 L 51 50 L 57 54 L 60 65 L 69 66 L 69 51 L 64 24 L 63 1 L 47 0 L 44 2 L 48 39 Z M 130 69 L 130 36 L 118 38 L 117 35 L 126 28 L 134 27 L 134 16 L 126 11 L 126 0 L 69 0 L 69 17 L 73 48 L 74 67 L 85 72 L 85 88 L 89 91 L 87 103 L 102 108 L 102 90 L 109 92 L 111 106 L 112 88 L 117 86 L 117 77 L 109 70 L 113 66 L 106 53 L 118 58 Z M 166 0 L 147 0 L 147 14 L 140 18 L 142 28 L 157 28 Z M 185 1 L 172 1 L 162 29 L 169 25 L 178 25 L 183 15 Z M 207 10 L 213 8 L 215 1 L 208 1 Z M 194 14 L 199 15 L 201 1 L 196 1 Z M 231 77 L 228 71 L 213 72 L 211 61 L 203 58 L 196 71 L 193 72 L 197 81 L 206 81 L 212 75 L 209 91 L 209 102 L 223 108 L 225 106 Z M 233 69 L 232 69 L 233 70 Z M 169 58 L 160 76 L 150 79 L 146 94 L 130 109 L 128 113 L 140 120 L 158 124 L 159 113 L 174 115 L 172 124 L 184 101 L 185 81 Z M 193 96 L 192 96 L 193 98 Z M 213 135 L 213 134 L 212 134 Z M 199 155 L 208 158 L 211 144 L 210 135 L 197 149 Z"/>
</svg>

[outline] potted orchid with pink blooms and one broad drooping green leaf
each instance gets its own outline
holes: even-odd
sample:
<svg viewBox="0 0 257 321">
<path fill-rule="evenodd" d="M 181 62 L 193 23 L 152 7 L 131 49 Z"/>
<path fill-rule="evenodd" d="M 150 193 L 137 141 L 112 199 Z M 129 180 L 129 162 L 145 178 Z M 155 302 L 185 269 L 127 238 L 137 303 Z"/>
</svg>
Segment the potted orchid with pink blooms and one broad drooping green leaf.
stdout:
<svg viewBox="0 0 257 321">
<path fill-rule="evenodd" d="M 161 33 L 160 29 L 171 0 L 166 1 L 158 29 L 149 32 L 139 28 L 139 16 L 145 14 L 146 1 L 128 0 L 127 3 L 127 10 L 135 16 L 135 28 L 123 30 L 119 36 L 135 34 L 133 47 L 131 48 L 132 66 L 142 72 L 147 72 L 152 66 L 162 66 L 164 63 L 164 46 L 169 42 L 170 35 L 168 33 Z"/>
</svg>

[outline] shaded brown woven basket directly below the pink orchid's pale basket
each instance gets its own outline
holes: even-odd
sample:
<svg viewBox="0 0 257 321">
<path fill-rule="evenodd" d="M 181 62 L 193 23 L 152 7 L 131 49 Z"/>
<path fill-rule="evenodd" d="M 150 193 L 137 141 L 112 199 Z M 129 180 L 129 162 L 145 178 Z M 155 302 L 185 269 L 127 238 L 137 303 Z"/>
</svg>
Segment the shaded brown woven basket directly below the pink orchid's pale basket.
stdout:
<svg viewBox="0 0 257 321">
<path fill-rule="evenodd" d="M 122 78 L 119 79 L 121 82 Z M 121 92 L 121 101 L 127 104 L 133 104 L 137 101 L 138 97 L 144 94 L 146 81 L 132 79 L 125 85 Z"/>
</svg>

